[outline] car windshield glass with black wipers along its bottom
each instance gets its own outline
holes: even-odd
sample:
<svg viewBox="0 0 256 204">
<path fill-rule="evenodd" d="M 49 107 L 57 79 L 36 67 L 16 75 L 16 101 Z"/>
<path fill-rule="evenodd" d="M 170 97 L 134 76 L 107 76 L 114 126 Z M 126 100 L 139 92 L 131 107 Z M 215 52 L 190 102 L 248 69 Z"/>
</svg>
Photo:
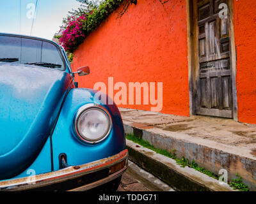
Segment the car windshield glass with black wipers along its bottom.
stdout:
<svg viewBox="0 0 256 204">
<path fill-rule="evenodd" d="M 60 50 L 47 41 L 0 35 L 0 62 L 64 69 Z"/>
</svg>

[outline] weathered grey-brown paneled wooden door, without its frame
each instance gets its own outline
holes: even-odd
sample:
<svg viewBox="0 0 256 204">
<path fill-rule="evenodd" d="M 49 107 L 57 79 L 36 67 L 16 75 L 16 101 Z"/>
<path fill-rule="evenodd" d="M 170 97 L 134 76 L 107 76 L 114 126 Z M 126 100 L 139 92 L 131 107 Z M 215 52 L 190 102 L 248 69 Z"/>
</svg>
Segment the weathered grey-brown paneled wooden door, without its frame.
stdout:
<svg viewBox="0 0 256 204">
<path fill-rule="evenodd" d="M 196 113 L 232 118 L 232 73 L 230 69 L 230 15 L 219 16 L 225 0 L 194 0 L 198 78 Z M 229 12 L 228 12 L 229 13 Z"/>
</svg>

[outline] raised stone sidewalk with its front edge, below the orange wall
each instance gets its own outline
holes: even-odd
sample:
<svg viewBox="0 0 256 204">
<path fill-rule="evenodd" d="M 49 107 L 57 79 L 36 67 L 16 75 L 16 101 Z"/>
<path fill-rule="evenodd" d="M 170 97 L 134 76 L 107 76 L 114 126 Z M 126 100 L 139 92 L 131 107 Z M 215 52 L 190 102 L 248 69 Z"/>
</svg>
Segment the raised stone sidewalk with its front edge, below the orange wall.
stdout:
<svg viewBox="0 0 256 204">
<path fill-rule="evenodd" d="M 192 116 L 180 117 L 163 113 L 119 108 L 125 133 L 147 140 L 181 159 L 183 156 L 198 166 L 218 175 L 228 171 L 228 180 L 236 173 L 251 191 L 256 191 L 256 126 L 230 119 Z"/>
</svg>

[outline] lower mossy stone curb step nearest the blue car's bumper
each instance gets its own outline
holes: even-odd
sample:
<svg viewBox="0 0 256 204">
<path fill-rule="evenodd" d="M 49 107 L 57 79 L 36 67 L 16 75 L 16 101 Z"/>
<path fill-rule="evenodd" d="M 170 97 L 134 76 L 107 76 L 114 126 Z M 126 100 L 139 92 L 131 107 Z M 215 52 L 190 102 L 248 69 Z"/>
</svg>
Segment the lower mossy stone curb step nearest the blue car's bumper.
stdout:
<svg viewBox="0 0 256 204">
<path fill-rule="evenodd" d="M 175 160 L 169 157 L 141 147 L 131 140 L 126 140 L 126 142 L 129 159 L 132 162 L 163 180 L 177 191 L 234 191 L 227 184 L 220 184 L 218 180 L 193 168 L 180 167 Z"/>
</svg>

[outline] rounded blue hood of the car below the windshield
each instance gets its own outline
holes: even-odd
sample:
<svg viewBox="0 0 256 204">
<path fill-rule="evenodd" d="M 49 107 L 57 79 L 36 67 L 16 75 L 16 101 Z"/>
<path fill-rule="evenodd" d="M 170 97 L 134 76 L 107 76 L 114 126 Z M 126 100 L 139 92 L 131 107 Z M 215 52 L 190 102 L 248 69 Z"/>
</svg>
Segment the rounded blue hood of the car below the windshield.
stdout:
<svg viewBox="0 0 256 204">
<path fill-rule="evenodd" d="M 71 76 L 0 62 L 0 180 L 33 163 L 51 133 Z"/>
</svg>

